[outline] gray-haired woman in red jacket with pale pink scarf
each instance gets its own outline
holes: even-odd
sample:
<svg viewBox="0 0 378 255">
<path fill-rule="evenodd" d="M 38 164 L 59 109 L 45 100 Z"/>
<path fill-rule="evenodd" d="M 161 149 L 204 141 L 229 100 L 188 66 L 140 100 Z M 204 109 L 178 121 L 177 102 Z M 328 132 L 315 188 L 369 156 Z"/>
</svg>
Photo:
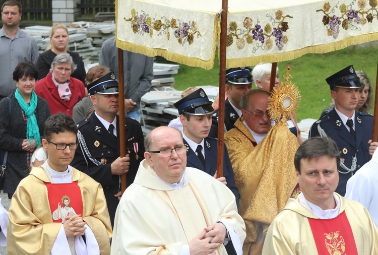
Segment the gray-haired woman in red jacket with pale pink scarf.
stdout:
<svg viewBox="0 0 378 255">
<path fill-rule="evenodd" d="M 35 85 L 35 93 L 46 99 L 51 114 L 63 112 L 72 116 L 77 102 L 86 97 L 84 84 L 71 73 L 76 65 L 69 53 L 60 53 L 54 57 L 50 72 Z"/>
</svg>

